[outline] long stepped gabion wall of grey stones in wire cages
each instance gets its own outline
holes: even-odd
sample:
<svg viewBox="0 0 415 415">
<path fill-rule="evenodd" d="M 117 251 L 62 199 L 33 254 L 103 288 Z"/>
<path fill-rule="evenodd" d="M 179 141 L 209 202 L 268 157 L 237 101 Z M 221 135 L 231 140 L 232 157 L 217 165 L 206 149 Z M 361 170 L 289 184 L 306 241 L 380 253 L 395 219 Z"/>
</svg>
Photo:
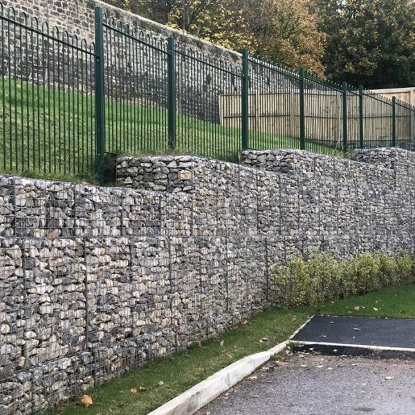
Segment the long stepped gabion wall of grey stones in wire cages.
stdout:
<svg viewBox="0 0 415 415">
<path fill-rule="evenodd" d="M 129 187 L 0 176 L 0 414 L 44 409 L 275 304 L 268 268 L 292 255 L 412 252 L 412 153 L 356 157 L 366 163 L 120 158 Z"/>
</svg>

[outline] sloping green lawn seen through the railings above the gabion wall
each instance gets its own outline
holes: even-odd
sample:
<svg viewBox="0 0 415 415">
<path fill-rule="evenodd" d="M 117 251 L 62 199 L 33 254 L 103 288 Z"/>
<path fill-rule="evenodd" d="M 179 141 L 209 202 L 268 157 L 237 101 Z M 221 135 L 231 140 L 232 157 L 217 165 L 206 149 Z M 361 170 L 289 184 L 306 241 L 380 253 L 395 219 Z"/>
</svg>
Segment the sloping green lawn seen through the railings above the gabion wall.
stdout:
<svg viewBox="0 0 415 415">
<path fill-rule="evenodd" d="M 113 154 L 167 154 L 167 111 L 163 107 L 106 99 L 105 150 Z M 90 180 L 95 154 L 95 100 L 91 91 L 62 91 L 0 77 L 0 172 Z M 206 109 L 208 111 L 208 109 Z M 210 108 L 209 111 L 212 111 Z M 189 115 L 176 116 L 174 154 L 237 161 L 241 130 Z M 252 132 L 255 149 L 299 149 L 299 139 Z M 312 151 L 342 156 L 313 143 Z"/>
</svg>

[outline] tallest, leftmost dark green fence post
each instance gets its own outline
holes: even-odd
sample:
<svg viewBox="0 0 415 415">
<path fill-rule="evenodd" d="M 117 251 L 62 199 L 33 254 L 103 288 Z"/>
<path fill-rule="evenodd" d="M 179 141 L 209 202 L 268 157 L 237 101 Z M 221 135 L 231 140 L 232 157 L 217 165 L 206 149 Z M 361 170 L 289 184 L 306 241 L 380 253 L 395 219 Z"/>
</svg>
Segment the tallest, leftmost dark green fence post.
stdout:
<svg viewBox="0 0 415 415">
<path fill-rule="evenodd" d="M 104 183 L 104 117 L 104 29 L 102 8 L 95 7 L 95 172 L 100 184 Z"/>
</svg>

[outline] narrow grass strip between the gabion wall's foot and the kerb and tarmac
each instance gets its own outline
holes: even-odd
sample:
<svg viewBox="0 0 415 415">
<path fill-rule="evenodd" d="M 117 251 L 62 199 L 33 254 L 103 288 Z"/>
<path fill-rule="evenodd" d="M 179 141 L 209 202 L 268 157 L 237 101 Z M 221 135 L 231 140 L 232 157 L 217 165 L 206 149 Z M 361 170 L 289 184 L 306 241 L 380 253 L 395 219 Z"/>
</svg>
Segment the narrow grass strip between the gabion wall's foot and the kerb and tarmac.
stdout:
<svg viewBox="0 0 415 415">
<path fill-rule="evenodd" d="M 270 309 L 220 338 L 183 353 L 160 358 L 122 378 L 92 389 L 87 392 L 93 398 L 93 405 L 89 408 L 82 407 L 79 398 L 76 398 L 72 403 L 46 414 L 147 414 L 235 360 L 286 340 L 308 316 L 314 314 L 415 318 L 415 286 L 387 288 L 319 306 Z M 268 338 L 268 341 L 260 342 L 261 338 Z M 164 383 L 158 386 L 158 382 Z M 140 387 L 145 390 L 140 391 Z M 136 394 L 131 393 L 133 388 L 138 389 Z"/>
</svg>

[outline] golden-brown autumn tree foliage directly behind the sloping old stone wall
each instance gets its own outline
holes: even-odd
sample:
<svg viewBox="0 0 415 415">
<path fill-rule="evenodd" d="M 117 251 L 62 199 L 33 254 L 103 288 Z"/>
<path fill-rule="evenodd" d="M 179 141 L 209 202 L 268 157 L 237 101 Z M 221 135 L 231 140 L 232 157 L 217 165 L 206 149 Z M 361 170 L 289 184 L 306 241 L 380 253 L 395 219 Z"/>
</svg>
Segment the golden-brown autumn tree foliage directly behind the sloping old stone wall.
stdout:
<svg viewBox="0 0 415 415">
<path fill-rule="evenodd" d="M 227 48 L 248 47 L 289 68 L 324 72 L 324 35 L 308 10 L 309 0 L 109 1 Z"/>
</svg>

